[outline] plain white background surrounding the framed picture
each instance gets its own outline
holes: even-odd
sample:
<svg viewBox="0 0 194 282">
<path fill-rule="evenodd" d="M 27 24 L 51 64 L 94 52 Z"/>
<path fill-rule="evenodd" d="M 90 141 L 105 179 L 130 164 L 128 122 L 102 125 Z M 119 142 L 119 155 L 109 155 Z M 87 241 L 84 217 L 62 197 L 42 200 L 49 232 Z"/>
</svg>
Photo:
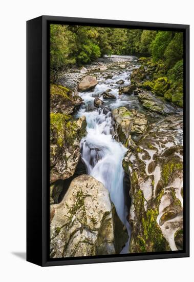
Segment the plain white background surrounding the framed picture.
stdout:
<svg viewBox="0 0 194 282">
<path fill-rule="evenodd" d="M 191 257 L 41 268 L 26 249 L 26 21 L 39 15 L 190 24 L 191 183 L 193 182 L 193 8 L 191 0 L 2 1 L 0 16 L 0 277 L 2 281 L 192 281 Z M 192 190 L 192 186 L 191 189 Z M 36 203 L 34 203 L 36 208 Z"/>
</svg>

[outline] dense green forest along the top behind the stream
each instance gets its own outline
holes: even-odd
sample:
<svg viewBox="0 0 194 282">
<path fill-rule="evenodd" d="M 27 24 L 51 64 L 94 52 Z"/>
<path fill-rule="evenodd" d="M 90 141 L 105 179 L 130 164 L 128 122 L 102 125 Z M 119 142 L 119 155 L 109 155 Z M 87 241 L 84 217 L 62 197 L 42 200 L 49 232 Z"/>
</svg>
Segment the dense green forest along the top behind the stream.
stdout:
<svg viewBox="0 0 194 282">
<path fill-rule="evenodd" d="M 165 98 L 183 106 L 183 33 L 142 29 L 51 25 L 51 80 L 65 67 L 88 64 L 103 55 L 137 55 L 155 66 L 153 81 L 164 77 L 170 84 Z M 149 58 L 149 59 L 148 59 Z M 149 88 L 154 87 L 149 82 Z"/>
</svg>

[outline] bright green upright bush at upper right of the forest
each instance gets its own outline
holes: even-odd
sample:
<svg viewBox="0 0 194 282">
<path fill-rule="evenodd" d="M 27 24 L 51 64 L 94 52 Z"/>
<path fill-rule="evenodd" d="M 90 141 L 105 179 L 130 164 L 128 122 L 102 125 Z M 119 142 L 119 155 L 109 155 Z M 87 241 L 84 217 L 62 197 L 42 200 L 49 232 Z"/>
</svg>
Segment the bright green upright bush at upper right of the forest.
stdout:
<svg viewBox="0 0 194 282">
<path fill-rule="evenodd" d="M 173 34 L 171 31 L 159 31 L 157 33 L 154 41 L 150 45 L 152 56 L 155 62 L 160 58 L 164 58 L 164 52 L 170 43 L 172 36 Z"/>
</svg>

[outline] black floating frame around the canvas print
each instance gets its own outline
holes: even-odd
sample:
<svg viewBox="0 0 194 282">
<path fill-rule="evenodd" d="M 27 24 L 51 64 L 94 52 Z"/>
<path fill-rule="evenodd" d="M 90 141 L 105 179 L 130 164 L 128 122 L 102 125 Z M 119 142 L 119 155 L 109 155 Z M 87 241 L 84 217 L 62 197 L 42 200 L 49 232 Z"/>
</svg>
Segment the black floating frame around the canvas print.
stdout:
<svg viewBox="0 0 194 282">
<path fill-rule="evenodd" d="M 49 24 L 174 30 L 184 33 L 184 250 L 49 258 Z M 186 203 L 186 204 L 185 204 Z M 27 260 L 39 266 L 189 256 L 189 25 L 40 16 L 27 22 Z"/>
</svg>

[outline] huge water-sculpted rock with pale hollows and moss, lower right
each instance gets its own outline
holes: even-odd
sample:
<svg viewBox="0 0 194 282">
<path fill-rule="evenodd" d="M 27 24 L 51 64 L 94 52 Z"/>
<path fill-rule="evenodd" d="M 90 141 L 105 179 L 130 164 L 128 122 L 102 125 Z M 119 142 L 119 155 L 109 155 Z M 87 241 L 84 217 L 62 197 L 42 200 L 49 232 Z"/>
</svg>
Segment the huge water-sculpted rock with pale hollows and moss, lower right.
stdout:
<svg viewBox="0 0 194 282">
<path fill-rule="evenodd" d="M 131 182 L 132 253 L 178 249 L 174 234 L 183 229 L 182 140 L 183 115 L 171 115 L 150 125 L 123 159 Z"/>
</svg>

